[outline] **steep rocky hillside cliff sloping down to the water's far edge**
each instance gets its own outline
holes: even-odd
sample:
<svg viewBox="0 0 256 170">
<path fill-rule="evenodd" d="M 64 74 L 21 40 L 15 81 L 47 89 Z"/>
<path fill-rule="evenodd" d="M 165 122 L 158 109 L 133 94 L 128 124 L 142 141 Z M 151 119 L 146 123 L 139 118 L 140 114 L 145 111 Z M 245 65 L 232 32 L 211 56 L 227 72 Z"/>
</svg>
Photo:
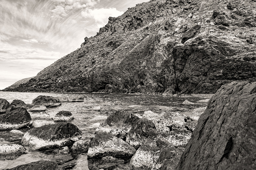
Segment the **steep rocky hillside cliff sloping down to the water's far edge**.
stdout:
<svg viewBox="0 0 256 170">
<path fill-rule="evenodd" d="M 256 80 L 255 0 L 151 0 L 5 91 L 215 93 Z"/>
</svg>

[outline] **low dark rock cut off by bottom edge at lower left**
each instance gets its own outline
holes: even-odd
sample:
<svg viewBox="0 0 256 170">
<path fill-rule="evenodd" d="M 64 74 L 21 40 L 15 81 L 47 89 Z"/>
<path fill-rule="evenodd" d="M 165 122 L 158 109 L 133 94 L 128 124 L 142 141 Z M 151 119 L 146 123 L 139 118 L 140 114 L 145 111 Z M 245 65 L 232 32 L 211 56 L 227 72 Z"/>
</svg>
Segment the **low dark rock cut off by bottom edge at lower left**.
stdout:
<svg viewBox="0 0 256 170">
<path fill-rule="evenodd" d="M 19 165 L 8 170 L 62 170 L 62 168 L 55 162 L 50 160 L 39 160 L 24 165 Z"/>
</svg>

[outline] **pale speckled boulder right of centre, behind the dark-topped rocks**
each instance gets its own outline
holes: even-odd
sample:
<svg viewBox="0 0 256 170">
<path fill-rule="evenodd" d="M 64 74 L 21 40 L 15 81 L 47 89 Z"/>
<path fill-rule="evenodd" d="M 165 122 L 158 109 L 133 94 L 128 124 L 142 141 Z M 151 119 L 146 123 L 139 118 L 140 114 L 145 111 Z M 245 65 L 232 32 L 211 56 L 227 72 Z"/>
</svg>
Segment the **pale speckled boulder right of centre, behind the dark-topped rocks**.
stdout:
<svg viewBox="0 0 256 170">
<path fill-rule="evenodd" d="M 149 110 L 144 112 L 142 116 L 151 120 L 155 124 L 157 131 L 170 131 L 168 127 L 173 123 L 178 123 L 180 125 L 185 123 L 184 117 L 177 112 L 166 111 L 161 114 L 157 114 Z"/>
</svg>

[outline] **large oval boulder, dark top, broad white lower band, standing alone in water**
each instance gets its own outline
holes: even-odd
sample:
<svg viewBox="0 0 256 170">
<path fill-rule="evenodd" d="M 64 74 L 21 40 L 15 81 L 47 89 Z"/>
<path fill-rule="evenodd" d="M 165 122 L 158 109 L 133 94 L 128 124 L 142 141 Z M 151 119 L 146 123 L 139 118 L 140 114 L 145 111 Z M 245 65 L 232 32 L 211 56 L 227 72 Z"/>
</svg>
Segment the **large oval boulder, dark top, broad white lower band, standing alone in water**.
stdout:
<svg viewBox="0 0 256 170">
<path fill-rule="evenodd" d="M 72 123 L 57 122 L 28 130 L 22 138 L 32 150 L 43 150 L 70 146 L 82 137 L 82 132 Z"/>
</svg>

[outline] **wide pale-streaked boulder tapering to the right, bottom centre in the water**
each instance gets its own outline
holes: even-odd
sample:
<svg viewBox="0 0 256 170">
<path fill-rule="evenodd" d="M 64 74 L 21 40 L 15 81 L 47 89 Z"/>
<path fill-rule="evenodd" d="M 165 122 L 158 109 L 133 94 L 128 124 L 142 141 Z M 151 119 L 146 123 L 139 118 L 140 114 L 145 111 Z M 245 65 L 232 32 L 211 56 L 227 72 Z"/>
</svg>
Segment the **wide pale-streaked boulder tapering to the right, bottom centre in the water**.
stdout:
<svg viewBox="0 0 256 170">
<path fill-rule="evenodd" d="M 98 133 L 92 139 L 88 149 L 88 158 L 96 159 L 111 156 L 128 160 L 136 150 L 122 139 L 107 133 Z"/>
</svg>

